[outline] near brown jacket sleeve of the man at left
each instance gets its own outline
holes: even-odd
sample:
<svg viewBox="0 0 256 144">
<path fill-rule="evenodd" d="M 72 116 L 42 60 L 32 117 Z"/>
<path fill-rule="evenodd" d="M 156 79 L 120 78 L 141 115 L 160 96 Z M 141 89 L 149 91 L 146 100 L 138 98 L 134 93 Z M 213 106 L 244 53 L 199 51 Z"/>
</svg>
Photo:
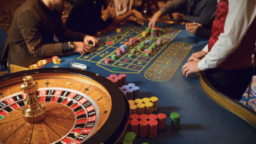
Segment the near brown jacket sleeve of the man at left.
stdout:
<svg viewBox="0 0 256 144">
<path fill-rule="evenodd" d="M 46 43 L 43 40 L 41 24 L 33 11 L 22 12 L 17 24 L 30 54 L 34 57 L 63 55 L 61 43 Z"/>
</svg>

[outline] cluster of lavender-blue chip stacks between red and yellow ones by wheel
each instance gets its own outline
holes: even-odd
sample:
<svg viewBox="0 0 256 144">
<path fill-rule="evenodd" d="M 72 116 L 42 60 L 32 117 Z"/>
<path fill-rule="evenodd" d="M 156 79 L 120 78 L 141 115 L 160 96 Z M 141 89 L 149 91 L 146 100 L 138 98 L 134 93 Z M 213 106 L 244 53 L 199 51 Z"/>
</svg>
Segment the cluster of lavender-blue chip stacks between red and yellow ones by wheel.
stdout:
<svg viewBox="0 0 256 144">
<path fill-rule="evenodd" d="M 123 85 L 119 87 L 120 90 L 123 91 L 124 94 L 126 94 L 127 99 L 136 99 L 139 96 L 139 87 L 135 86 L 134 83 L 129 83 L 127 85 Z"/>
</svg>

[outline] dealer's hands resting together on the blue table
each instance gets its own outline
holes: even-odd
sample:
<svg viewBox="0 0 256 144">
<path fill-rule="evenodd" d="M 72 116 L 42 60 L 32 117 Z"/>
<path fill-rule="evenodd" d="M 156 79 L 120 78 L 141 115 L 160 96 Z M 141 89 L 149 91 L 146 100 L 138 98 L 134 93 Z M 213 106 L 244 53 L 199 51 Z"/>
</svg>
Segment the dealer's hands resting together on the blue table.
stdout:
<svg viewBox="0 0 256 144">
<path fill-rule="evenodd" d="M 183 73 L 183 76 L 185 77 L 188 77 L 188 75 L 190 73 L 196 73 L 196 72 L 199 72 L 201 71 L 199 68 L 198 68 L 198 62 L 200 60 L 198 58 L 195 58 L 193 57 L 193 61 L 189 61 L 187 62 L 186 64 L 184 64 L 182 66 L 182 73 Z"/>
</svg>

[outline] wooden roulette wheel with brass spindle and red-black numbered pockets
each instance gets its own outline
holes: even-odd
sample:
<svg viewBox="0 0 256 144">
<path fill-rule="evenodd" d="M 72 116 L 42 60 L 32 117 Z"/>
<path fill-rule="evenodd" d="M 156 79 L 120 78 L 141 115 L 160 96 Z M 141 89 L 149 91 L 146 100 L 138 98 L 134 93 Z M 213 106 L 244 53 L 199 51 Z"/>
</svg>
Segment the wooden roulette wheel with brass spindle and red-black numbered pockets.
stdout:
<svg viewBox="0 0 256 144">
<path fill-rule="evenodd" d="M 0 98 L 0 143 L 118 143 L 129 123 L 123 93 L 89 71 L 8 74 L 0 77 Z"/>
</svg>

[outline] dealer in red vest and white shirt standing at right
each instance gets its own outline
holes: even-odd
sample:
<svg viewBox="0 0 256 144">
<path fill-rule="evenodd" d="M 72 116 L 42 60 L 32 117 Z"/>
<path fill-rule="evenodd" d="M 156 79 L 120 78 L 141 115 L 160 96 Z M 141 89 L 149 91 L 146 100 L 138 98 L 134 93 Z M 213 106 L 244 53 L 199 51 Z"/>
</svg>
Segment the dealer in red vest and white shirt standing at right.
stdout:
<svg viewBox="0 0 256 144">
<path fill-rule="evenodd" d="M 255 5 L 252 0 L 221 0 L 208 45 L 189 57 L 183 75 L 205 71 L 217 90 L 240 101 L 254 72 Z"/>
</svg>

